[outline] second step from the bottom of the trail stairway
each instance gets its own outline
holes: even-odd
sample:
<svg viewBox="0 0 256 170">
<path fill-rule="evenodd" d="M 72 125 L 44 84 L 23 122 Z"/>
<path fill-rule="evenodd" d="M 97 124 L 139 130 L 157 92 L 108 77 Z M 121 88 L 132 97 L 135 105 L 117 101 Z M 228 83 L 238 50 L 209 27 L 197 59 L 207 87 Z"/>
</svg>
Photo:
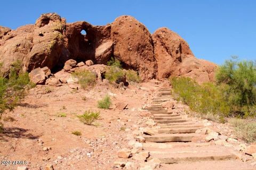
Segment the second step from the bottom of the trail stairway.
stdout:
<svg viewBox="0 0 256 170">
<path fill-rule="evenodd" d="M 143 135 L 148 142 L 191 142 L 196 133 Z"/>
</svg>

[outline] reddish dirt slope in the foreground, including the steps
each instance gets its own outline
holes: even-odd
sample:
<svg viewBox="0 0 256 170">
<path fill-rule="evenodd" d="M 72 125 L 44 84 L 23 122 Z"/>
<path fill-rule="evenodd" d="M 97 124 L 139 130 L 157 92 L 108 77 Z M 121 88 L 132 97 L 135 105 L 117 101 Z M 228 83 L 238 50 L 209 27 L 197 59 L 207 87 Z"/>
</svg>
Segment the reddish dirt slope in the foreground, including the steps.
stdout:
<svg viewBox="0 0 256 170">
<path fill-rule="evenodd" d="M 1 160 L 28 164 L 0 169 L 255 169 L 239 149 L 243 143 L 217 128 L 226 126 L 188 117 L 187 106 L 162 86 L 150 81 L 126 89 L 109 84 L 90 90 L 66 85 L 31 89 L 21 106 L 4 115 L 15 121 L 5 122 L 0 135 Z M 98 109 L 97 101 L 106 94 L 112 107 Z M 88 110 L 100 111 L 94 125 L 77 118 Z"/>
</svg>

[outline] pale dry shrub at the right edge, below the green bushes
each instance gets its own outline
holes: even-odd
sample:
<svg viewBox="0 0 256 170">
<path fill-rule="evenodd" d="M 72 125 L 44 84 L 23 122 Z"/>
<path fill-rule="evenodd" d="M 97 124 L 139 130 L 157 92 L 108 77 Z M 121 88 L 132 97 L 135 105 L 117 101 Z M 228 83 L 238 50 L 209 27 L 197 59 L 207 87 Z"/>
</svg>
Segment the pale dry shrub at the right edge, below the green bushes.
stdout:
<svg viewBox="0 0 256 170">
<path fill-rule="evenodd" d="M 238 138 L 246 142 L 256 141 L 256 122 L 252 120 L 242 120 L 233 118 L 229 123 L 234 127 L 235 133 Z"/>
</svg>

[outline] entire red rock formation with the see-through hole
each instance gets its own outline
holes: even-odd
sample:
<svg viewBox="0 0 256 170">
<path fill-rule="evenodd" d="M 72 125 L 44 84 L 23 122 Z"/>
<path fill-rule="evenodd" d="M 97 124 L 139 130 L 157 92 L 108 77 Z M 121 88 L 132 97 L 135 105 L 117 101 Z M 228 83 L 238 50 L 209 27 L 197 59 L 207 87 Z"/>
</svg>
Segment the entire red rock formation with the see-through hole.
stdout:
<svg viewBox="0 0 256 170">
<path fill-rule="evenodd" d="M 85 21 L 67 23 L 56 13 L 46 13 L 35 24 L 16 30 L 0 26 L 4 72 L 17 60 L 22 61 L 24 71 L 45 66 L 58 71 L 70 59 L 107 64 L 111 56 L 121 61 L 124 69 L 138 71 L 143 81 L 170 76 L 190 77 L 199 83 L 214 81 L 217 67 L 196 58 L 177 33 L 159 28 L 151 35 L 145 25 L 127 15 L 95 26 Z"/>
</svg>

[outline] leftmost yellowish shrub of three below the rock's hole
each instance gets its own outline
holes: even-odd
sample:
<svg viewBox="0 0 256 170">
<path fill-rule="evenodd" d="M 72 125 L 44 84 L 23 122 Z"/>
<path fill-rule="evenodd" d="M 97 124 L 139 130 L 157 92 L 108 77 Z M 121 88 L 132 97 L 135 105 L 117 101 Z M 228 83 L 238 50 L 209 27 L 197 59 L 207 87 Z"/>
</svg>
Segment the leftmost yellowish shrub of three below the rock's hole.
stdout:
<svg viewBox="0 0 256 170">
<path fill-rule="evenodd" d="M 96 75 L 88 70 L 76 71 L 72 75 L 78 79 L 78 83 L 84 89 L 96 83 Z"/>
</svg>

